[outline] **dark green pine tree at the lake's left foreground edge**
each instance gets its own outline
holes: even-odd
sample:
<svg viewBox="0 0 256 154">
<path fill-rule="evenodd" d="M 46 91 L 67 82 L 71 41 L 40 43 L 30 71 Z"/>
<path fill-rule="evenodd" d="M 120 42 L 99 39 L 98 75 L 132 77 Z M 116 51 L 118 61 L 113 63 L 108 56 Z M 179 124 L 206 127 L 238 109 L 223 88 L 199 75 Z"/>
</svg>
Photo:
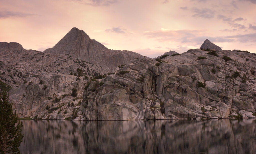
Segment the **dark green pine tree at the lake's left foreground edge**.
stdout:
<svg viewBox="0 0 256 154">
<path fill-rule="evenodd" d="M 2 92 L 0 96 L 0 153 L 20 153 L 18 147 L 22 142 L 22 122 L 18 122 L 16 111 L 13 113 L 12 103 L 9 103 L 9 95 Z M 16 124 L 16 126 L 15 126 Z"/>
</svg>

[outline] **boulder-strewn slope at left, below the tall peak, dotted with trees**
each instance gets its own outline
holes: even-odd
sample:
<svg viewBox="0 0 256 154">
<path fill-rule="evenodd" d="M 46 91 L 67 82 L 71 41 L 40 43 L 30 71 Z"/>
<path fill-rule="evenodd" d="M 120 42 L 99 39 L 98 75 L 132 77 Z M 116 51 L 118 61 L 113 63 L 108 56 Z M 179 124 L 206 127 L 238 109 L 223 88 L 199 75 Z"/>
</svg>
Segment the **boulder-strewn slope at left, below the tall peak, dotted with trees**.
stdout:
<svg viewBox="0 0 256 154">
<path fill-rule="evenodd" d="M 41 73 L 77 74 L 82 69 L 83 76 L 93 77 L 109 73 L 111 70 L 79 60 L 70 55 L 51 54 L 20 48 L 0 48 L 0 81 L 11 87 L 22 84 L 28 77 Z M 0 87 L 0 91 L 2 91 Z"/>
</svg>

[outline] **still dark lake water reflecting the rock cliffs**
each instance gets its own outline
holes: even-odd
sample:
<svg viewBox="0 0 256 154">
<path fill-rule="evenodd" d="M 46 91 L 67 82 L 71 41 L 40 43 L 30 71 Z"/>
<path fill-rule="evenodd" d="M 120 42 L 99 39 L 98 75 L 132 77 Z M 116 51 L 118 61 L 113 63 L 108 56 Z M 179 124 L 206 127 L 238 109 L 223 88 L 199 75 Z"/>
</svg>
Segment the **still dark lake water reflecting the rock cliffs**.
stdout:
<svg viewBox="0 0 256 154">
<path fill-rule="evenodd" d="M 21 121 L 22 154 L 256 153 L 256 119 Z"/>
</svg>

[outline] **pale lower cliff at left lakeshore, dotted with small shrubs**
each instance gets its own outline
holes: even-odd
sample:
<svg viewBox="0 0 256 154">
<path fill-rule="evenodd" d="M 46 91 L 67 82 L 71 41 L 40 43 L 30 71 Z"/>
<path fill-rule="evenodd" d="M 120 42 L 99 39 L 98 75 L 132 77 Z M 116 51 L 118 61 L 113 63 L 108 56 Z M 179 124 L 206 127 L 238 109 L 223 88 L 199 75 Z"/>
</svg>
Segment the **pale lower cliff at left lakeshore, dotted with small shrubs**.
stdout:
<svg viewBox="0 0 256 154">
<path fill-rule="evenodd" d="M 78 113 L 86 83 L 84 77 L 77 80 L 76 76 L 42 73 L 27 81 L 9 91 L 9 100 L 19 117 L 70 119 L 73 112 Z M 77 90 L 77 97 L 71 96 L 73 88 Z"/>
</svg>

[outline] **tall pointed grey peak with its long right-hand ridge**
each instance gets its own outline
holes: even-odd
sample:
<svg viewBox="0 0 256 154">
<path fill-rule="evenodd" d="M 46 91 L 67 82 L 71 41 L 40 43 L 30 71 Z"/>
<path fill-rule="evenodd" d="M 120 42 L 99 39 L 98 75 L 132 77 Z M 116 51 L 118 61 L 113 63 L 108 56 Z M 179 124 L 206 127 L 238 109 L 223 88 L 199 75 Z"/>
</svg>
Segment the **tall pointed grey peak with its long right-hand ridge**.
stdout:
<svg viewBox="0 0 256 154">
<path fill-rule="evenodd" d="M 94 65 L 113 69 L 118 65 L 143 57 L 131 51 L 109 50 L 101 43 L 91 40 L 83 31 L 72 28 L 54 47 L 45 53 L 68 54 Z"/>
</svg>

